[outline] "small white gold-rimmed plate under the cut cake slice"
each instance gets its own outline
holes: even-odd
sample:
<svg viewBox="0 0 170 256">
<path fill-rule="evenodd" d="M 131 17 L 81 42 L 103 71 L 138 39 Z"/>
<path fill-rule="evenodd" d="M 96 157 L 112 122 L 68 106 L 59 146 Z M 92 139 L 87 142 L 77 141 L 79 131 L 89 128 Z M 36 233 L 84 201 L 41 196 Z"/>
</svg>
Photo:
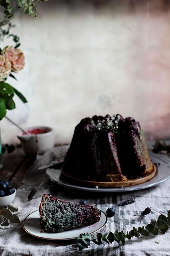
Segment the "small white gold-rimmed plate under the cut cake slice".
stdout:
<svg viewBox="0 0 170 256">
<path fill-rule="evenodd" d="M 101 210 L 100 210 L 101 211 Z M 28 215 L 23 221 L 24 230 L 37 238 L 47 239 L 47 240 L 71 240 L 78 238 L 82 233 L 93 234 L 103 228 L 107 223 L 107 216 L 104 212 L 101 211 L 101 217 L 98 222 L 95 224 L 85 226 L 82 228 L 74 228 L 69 231 L 59 232 L 59 233 L 47 233 L 41 232 L 40 229 L 40 214 L 39 210 L 32 212 Z"/>
</svg>

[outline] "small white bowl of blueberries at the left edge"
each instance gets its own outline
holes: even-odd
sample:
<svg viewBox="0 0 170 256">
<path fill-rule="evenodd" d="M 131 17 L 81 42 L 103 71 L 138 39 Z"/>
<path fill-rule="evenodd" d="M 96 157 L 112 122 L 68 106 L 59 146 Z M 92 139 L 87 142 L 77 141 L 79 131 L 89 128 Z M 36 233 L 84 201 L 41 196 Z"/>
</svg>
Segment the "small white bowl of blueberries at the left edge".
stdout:
<svg viewBox="0 0 170 256">
<path fill-rule="evenodd" d="M 0 208 L 14 201 L 16 189 L 9 186 L 7 180 L 0 181 Z"/>
</svg>

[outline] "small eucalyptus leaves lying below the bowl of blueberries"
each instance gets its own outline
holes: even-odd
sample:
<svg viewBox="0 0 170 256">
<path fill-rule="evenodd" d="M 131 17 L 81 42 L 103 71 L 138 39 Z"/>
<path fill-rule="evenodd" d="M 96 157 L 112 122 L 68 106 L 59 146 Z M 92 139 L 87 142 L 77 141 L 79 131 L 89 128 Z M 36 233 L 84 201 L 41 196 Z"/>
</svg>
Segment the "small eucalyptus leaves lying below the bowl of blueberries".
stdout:
<svg viewBox="0 0 170 256">
<path fill-rule="evenodd" d="M 8 208 L 2 208 L 0 212 L 0 226 L 9 226 L 10 222 L 20 223 L 20 219 L 18 218 L 18 207 L 14 206 L 14 204 L 10 203 Z M 16 213 L 14 214 L 13 212 Z"/>
</svg>

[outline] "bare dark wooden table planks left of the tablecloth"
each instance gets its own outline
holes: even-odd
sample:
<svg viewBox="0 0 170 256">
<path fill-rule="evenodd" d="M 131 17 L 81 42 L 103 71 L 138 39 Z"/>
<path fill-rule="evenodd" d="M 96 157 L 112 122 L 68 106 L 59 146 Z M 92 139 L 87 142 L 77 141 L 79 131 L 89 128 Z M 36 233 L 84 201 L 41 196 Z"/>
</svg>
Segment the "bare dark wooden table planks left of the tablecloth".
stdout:
<svg viewBox="0 0 170 256">
<path fill-rule="evenodd" d="M 8 180 L 10 186 L 17 189 L 35 158 L 29 158 L 22 148 L 16 148 L 12 153 L 4 153 L 2 159 L 3 168 L 0 170 L 0 180 Z"/>
</svg>

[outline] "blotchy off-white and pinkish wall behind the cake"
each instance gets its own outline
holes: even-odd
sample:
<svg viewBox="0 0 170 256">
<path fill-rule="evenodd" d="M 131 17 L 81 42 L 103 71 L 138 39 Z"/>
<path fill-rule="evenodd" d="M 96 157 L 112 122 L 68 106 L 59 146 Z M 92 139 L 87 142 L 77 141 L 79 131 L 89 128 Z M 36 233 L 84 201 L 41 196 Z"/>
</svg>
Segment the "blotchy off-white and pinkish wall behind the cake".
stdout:
<svg viewBox="0 0 170 256">
<path fill-rule="evenodd" d="M 26 66 L 9 82 L 28 98 L 8 116 L 22 126 L 53 126 L 71 140 L 94 114 L 134 116 L 147 138 L 170 138 L 170 1 L 55 1 L 38 18 L 18 13 Z M 18 129 L 1 122 L 2 141 Z"/>
</svg>

